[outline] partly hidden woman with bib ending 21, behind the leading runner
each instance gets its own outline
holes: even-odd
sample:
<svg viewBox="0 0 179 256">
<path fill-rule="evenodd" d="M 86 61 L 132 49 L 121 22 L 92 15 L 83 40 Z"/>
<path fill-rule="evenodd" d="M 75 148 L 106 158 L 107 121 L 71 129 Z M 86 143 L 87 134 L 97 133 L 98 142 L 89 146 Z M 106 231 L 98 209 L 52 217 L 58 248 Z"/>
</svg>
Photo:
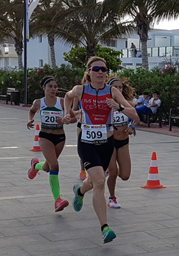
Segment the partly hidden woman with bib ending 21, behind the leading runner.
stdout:
<svg viewBox="0 0 179 256">
<path fill-rule="evenodd" d="M 123 97 L 134 108 L 132 100 L 134 99 L 134 89 L 128 84 L 127 77 L 111 76 L 109 77 L 107 84 L 116 88 L 123 94 Z M 107 186 L 109 189 L 109 202 L 107 205 L 112 208 L 120 208 L 115 196 L 116 179 L 119 176 L 122 180 L 128 180 L 131 172 L 130 154 L 128 149 L 128 136 L 135 135 L 136 129 L 134 124 L 138 124 L 139 118 L 136 118 L 134 123 L 128 122 L 128 116 L 118 109 L 118 104 L 114 102 L 114 152 L 111 157 L 111 161 L 107 172 L 109 177 L 107 179 Z"/>
</svg>

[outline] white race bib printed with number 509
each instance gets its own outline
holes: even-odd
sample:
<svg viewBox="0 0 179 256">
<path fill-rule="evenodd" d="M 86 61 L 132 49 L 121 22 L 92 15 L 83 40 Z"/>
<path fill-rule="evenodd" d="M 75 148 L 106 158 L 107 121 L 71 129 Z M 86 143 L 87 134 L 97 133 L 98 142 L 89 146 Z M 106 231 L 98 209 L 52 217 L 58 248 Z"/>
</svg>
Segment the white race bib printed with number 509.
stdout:
<svg viewBox="0 0 179 256">
<path fill-rule="evenodd" d="M 81 141 L 91 144 L 103 144 L 107 142 L 107 129 L 105 124 L 88 125 L 82 124 Z"/>
</svg>

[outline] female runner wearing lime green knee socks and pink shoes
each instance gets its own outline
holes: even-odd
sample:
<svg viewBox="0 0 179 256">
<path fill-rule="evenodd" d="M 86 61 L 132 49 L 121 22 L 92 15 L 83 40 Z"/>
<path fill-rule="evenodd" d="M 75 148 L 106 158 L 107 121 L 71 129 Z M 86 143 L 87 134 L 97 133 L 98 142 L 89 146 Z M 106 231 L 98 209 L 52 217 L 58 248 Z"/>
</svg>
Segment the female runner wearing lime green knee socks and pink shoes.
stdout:
<svg viewBox="0 0 179 256">
<path fill-rule="evenodd" d="M 39 170 L 49 172 L 49 182 L 54 196 L 55 212 L 62 211 L 68 206 L 68 201 L 61 199 L 59 191 L 58 179 L 58 157 L 61 154 L 65 145 L 65 131 L 63 129 L 64 116 L 64 99 L 56 97 L 58 91 L 57 80 L 55 77 L 44 77 L 40 81 L 40 86 L 45 92 L 45 97 L 36 99 L 29 110 L 29 122 L 27 128 L 34 127 L 34 116 L 39 110 L 41 118 L 41 129 L 39 132 L 39 145 L 42 150 L 45 162 L 39 163 L 37 158 L 31 160 L 31 168 L 28 172 L 29 179 L 34 179 Z M 72 118 L 71 123 L 77 121 L 75 115 L 70 109 Z"/>
</svg>

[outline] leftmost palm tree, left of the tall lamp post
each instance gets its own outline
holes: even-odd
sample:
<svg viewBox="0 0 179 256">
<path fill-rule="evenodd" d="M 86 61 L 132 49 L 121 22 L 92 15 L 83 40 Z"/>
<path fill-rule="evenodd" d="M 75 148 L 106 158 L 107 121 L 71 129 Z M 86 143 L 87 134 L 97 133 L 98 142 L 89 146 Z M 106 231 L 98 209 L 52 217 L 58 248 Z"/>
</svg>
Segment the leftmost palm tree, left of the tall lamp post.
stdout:
<svg viewBox="0 0 179 256">
<path fill-rule="evenodd" d="M 0 0 L 0 38 L 11 38 L 15 42 L 19 69 L 23 69 L 22 27 L 24 19 L 24 3 L 22 0 Z"/>
</svg>

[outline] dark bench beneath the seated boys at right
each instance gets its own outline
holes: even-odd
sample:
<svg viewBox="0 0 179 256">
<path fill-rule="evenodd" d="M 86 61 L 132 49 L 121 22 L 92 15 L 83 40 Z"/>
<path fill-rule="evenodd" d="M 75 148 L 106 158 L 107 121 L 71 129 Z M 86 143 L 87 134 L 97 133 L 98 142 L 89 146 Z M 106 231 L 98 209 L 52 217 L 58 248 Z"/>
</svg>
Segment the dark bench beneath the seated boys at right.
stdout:
<svg viewBox="0 0 179 256">
<path fill-rule="evenodd" d="M 162 102 L 157 109 L 157 113 L 150 113 L 148 109 L 148 114 L 140 115 L 141 122 L 148 124 L 148 127 L 150 127 L 151 123 L 156 122 L 157 118 L 159 120 L 159 127 L 162 127 Z"/>
</svg>

